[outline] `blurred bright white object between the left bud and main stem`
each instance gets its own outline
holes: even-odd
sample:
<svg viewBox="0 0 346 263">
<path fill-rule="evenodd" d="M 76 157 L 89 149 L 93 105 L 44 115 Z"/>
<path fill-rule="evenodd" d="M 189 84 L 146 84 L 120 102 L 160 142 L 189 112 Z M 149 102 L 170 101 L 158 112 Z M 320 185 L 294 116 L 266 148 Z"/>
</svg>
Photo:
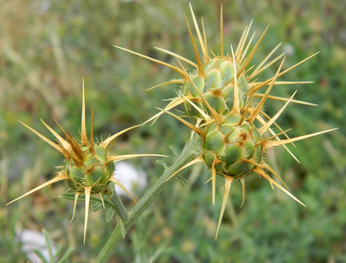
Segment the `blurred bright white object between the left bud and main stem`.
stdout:
<svg viewBox="0 0 346 263">
<path fill-rule="evenodd" d="M 143 189 L 147 185 L 147 175 L 143 170 L 135 168 L 131 163 L 119 161 L 116 163 L 116 170 L 113 176 L 121 182 L 121 184 L 135 196 L 136 189 Z M 119 186 L 115 186 L 118 195 L 127 196 L 126 192 Z"/>
</svg>

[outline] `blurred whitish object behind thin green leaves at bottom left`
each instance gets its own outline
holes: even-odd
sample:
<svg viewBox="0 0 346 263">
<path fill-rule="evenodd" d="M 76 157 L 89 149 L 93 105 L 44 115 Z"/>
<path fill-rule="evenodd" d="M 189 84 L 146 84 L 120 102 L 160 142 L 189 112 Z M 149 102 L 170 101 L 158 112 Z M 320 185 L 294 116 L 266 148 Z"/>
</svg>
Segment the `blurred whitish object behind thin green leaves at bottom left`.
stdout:
<svg viewBox="0 0 346 263">
<path fill-rule="evenodd" d="M 41 232 L 24 229 L 17 235 L 18 241 L 22 243 L 21 251 L 24 252 L 31 263 L 41 263 L 42 261 L 33 252 L 36 248 L 46 259 L 49 259 L 48 249 L 45 243 L 44 235 Z M 53 254 L 56 253 L 56 247 L 52 244 Z"/>
</svg>

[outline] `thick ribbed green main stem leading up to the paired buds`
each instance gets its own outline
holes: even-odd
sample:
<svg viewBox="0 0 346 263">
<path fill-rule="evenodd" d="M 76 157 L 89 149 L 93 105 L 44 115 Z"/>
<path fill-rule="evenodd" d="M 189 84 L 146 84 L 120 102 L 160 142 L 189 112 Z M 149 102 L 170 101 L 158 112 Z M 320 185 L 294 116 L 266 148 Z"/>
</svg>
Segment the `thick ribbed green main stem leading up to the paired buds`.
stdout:
<svg viewBox="0 0 346 263">
<path fill-rule="evenodd" d="M 165 170 L 163 175 L 156 181 L 156 183 L 146 192 L 146 194 L 129 212 L 128 220 L 124 222 L 126 232 L 135 223 L 136 219 L 144 212 L 144 210 L 161 193 L 161 191 L 165 189 L 179 173 L 177 173 L 169 180 L 167 180 L 167 178 L 169 178 L 175 171 L 180 169 L 182 166 L 186 165 L 193 159 L 200 156 L 200 145 L 201 138 L 197 134 L 195 134 L 193 138 L 190 140 L 190 142 L 188 142 L 185 145 L 181 155 L 177 158 L 173 165 Z M 102 248 L 94 263 L 106 263 L 121 240 L 122 237 L 120 234 L 118 224 L 117 227 L 114 229 L 112 235 L 109 237 L 107 243 Z"/>
</svg>

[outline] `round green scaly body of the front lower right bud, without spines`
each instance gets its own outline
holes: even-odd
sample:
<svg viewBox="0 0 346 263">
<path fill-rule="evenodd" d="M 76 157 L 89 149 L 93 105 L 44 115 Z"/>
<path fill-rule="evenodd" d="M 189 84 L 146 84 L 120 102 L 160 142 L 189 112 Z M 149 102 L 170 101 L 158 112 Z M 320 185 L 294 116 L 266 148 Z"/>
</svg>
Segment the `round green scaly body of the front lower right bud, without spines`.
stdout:
<svg viewBox="0 0 346 263">
<path fill-rule="evenodd" d="M 255 126 L 243 120 L 241 117 L 229 115 L 218 129 L 216 123 L 212 123 L 206 129 L 203 143 L 203 157 L 207 166 L 220 175 L 232 177 L 245 176 L 255 168 L 253 162 L 262 161 L 262 147 L 258 144 L 260 133 Z"/>
</svg>

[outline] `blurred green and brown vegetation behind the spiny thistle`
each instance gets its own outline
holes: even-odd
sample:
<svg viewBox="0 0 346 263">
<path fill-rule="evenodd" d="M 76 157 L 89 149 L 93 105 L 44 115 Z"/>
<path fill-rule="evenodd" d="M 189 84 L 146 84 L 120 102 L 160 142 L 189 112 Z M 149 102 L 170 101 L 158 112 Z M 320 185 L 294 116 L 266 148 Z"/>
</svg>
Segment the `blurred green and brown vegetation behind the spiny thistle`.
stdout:
<svg viewBox="0 0 346 263">
<path fill-rule="evenodd" d="M 319 106 L 291 104 L 279 119 L 291 137 L 340 127 L 289 145 L 301 163 L 282 148 L 268 153 L 275 170 L 307 208 L 267 181 L 248 177 L 245 204 L 241 187 L 232 186 L 218 239 L 214 240 L 221 195 L 211 205 L 210 171 L 196 166 L 183 172 L 189 186 L 175 180 L 139 218 L 109 262 L 346 262 L 346 2 L 343 0 L 192 0 L 195 15 L 203 16 L 208 48 L 219 50 L 219 10 L 224 5 L 224 43 L 230 51 L 245 26 L 254 19 L 258 39 L 271 26 L 253 59 L 258 65 L 278 43 L 285 51 L 284 68 L 321 51 L 280 81 L 313 84 L 274 86 L 272 95 Z M 94 134 L 101 139 L 137 125 L 175 96 L 177 85 L 146 92 L 177 78 L 168 68 L 125 51 L 173 62 L 153 46 L 194 60 L 184 21 L 192 22 L 188 1 L 154 0 L 1 0 L 0 1 L 0 262 L 26 262 L 18 233 L 45 228 L 57 244 L 75 248 L 70 262 L 92 262 L 116 225 L 105 211 L 90 212 L 83 246 L 84 203 L 70 224 L 73 201 L 51 198 L 67 190 L 63 183 L 20 201 L 8 201 L 51 179 L 62 156 L 17 122 L 23 121 L 53 139 L 42 118 L 56 131 L 53 118 L 72 134 L 79 133 L 82 77 L 86 87 L 87 123 L 94 108 Z M 194 33 L 195 34 L 195 33 Z M 278 64 L 260 80 L 272 77 Z M 273 116 L 282 102 L 266 102 Z M 113 143 L 121 154 L 159 153 L 172 156 L 169 145 L 181 151 L 190 131 L 171 116 L 127 132 Z M 155 158 L 133 164 L 148 175 L 147 188 L 163 167 Z M 221 188 L 221 178 L 218 178 Z M 124 199 L 130 209 L 134 203 Z"/>
</svg>

